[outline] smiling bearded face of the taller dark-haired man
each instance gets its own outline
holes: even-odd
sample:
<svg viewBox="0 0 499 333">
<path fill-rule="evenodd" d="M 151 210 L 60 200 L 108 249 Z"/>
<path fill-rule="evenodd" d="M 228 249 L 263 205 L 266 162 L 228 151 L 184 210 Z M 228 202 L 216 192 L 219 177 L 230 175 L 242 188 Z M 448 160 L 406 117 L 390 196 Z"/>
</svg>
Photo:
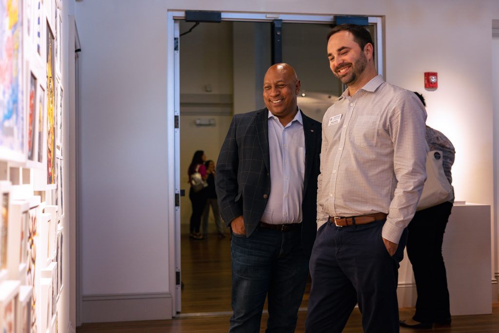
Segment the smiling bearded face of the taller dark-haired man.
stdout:
<svg viewBox="0 0 499 333">
<path fill-rule="evenodd" d="M 333 34 L 327 42 L 329 68 L 347 86 L 362 87 L 367 83 L 368 57 L 372 58 L 372 45 L 362 50 L 351 32 L 343 30 Z"/>
</svg>

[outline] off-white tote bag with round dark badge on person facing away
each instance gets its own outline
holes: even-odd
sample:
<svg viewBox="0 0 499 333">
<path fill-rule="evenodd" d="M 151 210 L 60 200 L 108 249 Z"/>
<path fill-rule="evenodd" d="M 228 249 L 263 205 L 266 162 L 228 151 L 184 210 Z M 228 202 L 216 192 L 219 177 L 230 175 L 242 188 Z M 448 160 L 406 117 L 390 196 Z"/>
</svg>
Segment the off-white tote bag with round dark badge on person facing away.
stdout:
<svg viewBox="0 0 499 333">
<path fill-rule="evenodd" d="M 419 199 L 417 211 L 440 205 L 452 200 L 452 186 L 445 176 L 442 165 L 444 155 L 439 150 L 432 150 L 426 156 L 426 181 Z"/>
</svg>

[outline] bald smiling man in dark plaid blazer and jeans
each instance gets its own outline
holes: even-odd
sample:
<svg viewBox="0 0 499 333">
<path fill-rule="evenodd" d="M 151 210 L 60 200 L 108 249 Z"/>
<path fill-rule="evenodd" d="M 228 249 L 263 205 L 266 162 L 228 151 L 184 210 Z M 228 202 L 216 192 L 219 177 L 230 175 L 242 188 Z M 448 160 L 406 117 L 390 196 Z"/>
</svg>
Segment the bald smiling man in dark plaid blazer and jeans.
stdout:
<svg viewBox="0 0 499 333">
<path fill-rule="evenodd" d="M 217 163 L 222 218 L 232 230 L 230 332 L 294 332 L 315 239 L 321 124 L 301 112 L 294 69 L 272 65 L 264 109 L 236 114 Z"/>
</svg>

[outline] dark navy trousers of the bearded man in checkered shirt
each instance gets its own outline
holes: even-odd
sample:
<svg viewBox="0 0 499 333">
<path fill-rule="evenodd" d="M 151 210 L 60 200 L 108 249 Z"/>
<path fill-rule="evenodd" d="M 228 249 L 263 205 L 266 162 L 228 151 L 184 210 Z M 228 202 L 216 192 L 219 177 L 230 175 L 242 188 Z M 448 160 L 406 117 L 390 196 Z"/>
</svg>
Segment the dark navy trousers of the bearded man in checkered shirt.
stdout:
<svg viewBox="0 0 499 333">
<path fill-rule="evenodd" d="M 399 332 L 398 268 L 407 230 L 390 257 L 381 236 L 384 223 L 336 227 L 327 222 L 319 228 L 310 258 L 305 332 L 342 332 L 357 303 L 364 332 Z"/>
</svg>

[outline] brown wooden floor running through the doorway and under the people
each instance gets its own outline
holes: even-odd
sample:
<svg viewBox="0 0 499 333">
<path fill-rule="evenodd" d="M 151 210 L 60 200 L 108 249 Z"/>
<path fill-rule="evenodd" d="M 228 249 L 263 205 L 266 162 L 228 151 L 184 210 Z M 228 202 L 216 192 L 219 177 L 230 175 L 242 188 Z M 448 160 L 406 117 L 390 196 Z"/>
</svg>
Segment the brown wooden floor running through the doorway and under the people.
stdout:
<svg viewBox="0 0 499 333">
<path fill-rule="evenodd" d="M 122 323 L 84 324 L 77 333 L 222 333 L 229 330 L 231 317 L 231 264 L 230 237 L 219 239 L 210 234 L 205 241 L 189 241 L 182 236 L 182 311 L 169 321 L 142 321 Z M 306 304 L 310 284 L 303 297 L 302 308 L 298 313 L 296 333 L 305 332 Z M 409 318 L 413 308 L 400 309 L 401 318 Z M 262 316 L 264 332 L 266 313 Z M 343 332 L 362 332 L 361 315 L 354 310 Z M 452 326 L 435 326 L 432 330 L 401 328 L 400 332 L 490 332 L 499 333 L 499 304 L 493 305 L 492 315 L 454 316 Z"/>
</svg>

